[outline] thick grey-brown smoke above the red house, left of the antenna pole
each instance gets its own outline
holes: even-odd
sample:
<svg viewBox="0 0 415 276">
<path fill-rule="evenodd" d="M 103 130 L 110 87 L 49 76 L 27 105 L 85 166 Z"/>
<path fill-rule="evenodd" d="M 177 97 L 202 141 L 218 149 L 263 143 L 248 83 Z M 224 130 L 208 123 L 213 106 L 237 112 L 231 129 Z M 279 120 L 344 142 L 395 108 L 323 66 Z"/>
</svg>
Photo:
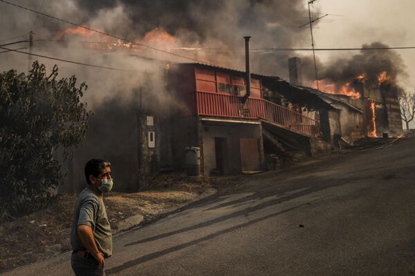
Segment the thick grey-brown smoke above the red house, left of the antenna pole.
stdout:
<svg viewBox="0 0 415 276">
<path fill-rule="evenodd" d="M 246 35 L 252 36 L 252 47 L 255 48 L 291 47 L 308 39 L 306 28 L 297 28 L 306 16 L 302 0 L 10 1 L 34 10 L 39 10 L 42 7 L 42 12 L 54 17 L 67 19 L 131 41 L 145 43 L 152 47 L 174 52 L 177 55 L 241 70 L 244 67 L 243 37 Z M 10 42 L 4 39 L 27 34 L 29 30 L 33 30 L 36 34 L 33 52 L 41 55 L 141 71 L 151 70 L 151 64 L 142 63 L 142 61 L 131 57 L 131 53 L 156 59 L 194 62 L 140 47 L 135 48 L 133 52 L 128 51 L 127 48 L 122 49 L 122 47 L 118 47 L 119 50 L 111 51 L 96 50 L 96 45 L 95 49 L 91 49 L 88 48 L 91 44 L 79 43 L 79 41 L 112 43 L 117 41 L 93 32 L 83 31 L 83 33 L 74 34 L 76 30 L 73 26 L 47 17 L 38 17 L 37 14 L 6 3 L 0 3 L 0 13 L 2 26 L 0 41 L 2 43 Z M 67 28 L 72 29 L 68 30 Z M 37 41 L 36 39 L 64 39 L 66 42 L 56 43 Z M 10 46 L 10 48 L 18 48 L 19 46 L 21 44 Z M 195 47 L 228 50 L 177 49 Z M 8 70 L 9 68 L 27 70 L 28 57 L 17 53 L 0 55 L 2 60 L 0 70 Z M 291 53 L 288 52 L 252 55 L 252 71 L 286 77 L 289 55 Z M 50 68 L 55 63 L 55 61 L 40 60 Z M 58 63 L 62 73 L 76 74 L 78 79 L 86 81 L 89 90 L 92 90 L 92 94 L 96 97 L 115 93 L 116 90 L 122 90 L 120 93 L 128 93 L 140 83 L 130 75 L 126 77 L 124 72 Z"/>
</svg>

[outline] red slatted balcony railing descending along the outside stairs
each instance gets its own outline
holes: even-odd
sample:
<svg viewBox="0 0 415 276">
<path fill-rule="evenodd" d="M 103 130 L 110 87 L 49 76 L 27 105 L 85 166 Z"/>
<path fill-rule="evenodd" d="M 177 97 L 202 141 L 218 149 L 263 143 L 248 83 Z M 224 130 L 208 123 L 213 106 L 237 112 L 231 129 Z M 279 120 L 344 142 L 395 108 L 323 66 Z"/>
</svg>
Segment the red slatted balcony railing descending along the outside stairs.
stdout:
<svg viewBox="0 0 415 276">
<path fill-rule="evenodd" d="M 234 95 L 196 92 L 188 96 L 187 103 L 192 115 L 264 119 L 311 137 L 321 137 L 319 121 L 265 99 L 248 98 L 244 104 L 241 97 Z"/>
</svg>

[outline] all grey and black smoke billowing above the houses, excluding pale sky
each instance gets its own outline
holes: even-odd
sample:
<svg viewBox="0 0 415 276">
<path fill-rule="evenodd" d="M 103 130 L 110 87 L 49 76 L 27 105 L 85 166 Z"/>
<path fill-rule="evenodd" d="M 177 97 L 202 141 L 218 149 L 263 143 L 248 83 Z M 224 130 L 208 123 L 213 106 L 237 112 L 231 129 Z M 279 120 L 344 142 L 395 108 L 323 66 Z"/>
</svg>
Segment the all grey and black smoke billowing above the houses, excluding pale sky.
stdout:
<svg viewBox="0 0 415 276">
<path fill-rule="evenodd" d="M 16 0 L 17 4 L 35 10 L 41 8 L 42 2 Z M 42 7 L 42 12 L 46 14 L 176 55 L 117 41 L 4 3 L 1 6 L 5 16 L 0 17 L 0 23 L 6 26 L 2 29 L 1 39 L 33 30 L 37 39 L 33 51 L 41 55 L 127 70 L 59 64 L 64 74 L 75 74 L 89 84 L 87 99 L 92 104 L 114 94 L 128 98 L 131 91 L 145 81 L 143 72 L 154 72 L 152 81 L 163 82 L 158 65 L 137 56 L 162 61 L 203 61 L 243 70 L 243 37 L 246 35 L 252 37 L 251 48 L 256 49 L 295 48 L 309 44 L 308 29 L 298 28 L 308 21 L 306 1 L 303 0 L 46 0 Z M 89 43 L 91 41 L 100 43 Z M 382 46 L 385 45 L 376 42 L 363 47 Z M 287 79 L 287 59 L 293 55 L 293 52 L 252 52 L 252 72 Z M 25 56 L 8 53 L 2 57 L 3 70 L 27 68 Z M 302 57 L 302 71 L 308 83 L 315 77 L 310 57 Z M 42 62 L 49 64 L 50 68 L 55 63 Z M 393 50 L 365 50 L 356 55 L 338 57 L 329 64 L 317 60 L 317 68 L 319 79 L 339 85 L 353 81 L 362 74 L 370 85 L 378 83 L 382 72 L 387 72 L 389 81 L 396 81 L 398 75 L 405 75 L 403 61 Z M 164 97 L 163 89 L 158 93 L 161 98 Z"/>
</svg>

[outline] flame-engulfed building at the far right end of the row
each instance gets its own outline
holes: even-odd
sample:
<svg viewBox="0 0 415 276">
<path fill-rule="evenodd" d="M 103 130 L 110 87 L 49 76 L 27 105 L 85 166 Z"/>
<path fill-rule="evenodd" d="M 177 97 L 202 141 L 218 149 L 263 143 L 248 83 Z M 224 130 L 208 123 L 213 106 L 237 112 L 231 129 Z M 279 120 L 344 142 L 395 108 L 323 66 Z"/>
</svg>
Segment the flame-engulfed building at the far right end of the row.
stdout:
<svg viewBox="0 0 415 276">
<path fill-rule="evenodd" d="M 366 54 L 354 56 L 351 61 L 335 62 L 326 68 L 322 74 L 326 77 L 318 81 L 319 90 L 317 90 L 317 81 L 313 81 L 311 87 L 298 86 L 318 95 L 338 110 L 339 114 L 336 115 L 331 110 L 319 109 L 320 124 L 322 132 L 325 133 L 325 140 L 332 141 L 335 146 L 338 145 L 339 137 L 353 141 L 362 137 L 380 137 L 384 134 L 397 135 L 402 131 L 398 103 L 400 88 L 396 84 L 398 72 L 396 64 L 380 67 L 389 68 L 395 73 L 391 74 L 386 70 L 378 72 L 379 68 L 371 70 L 373 65 L 369 64 L 369 61 L 375 62 L 378 56 L 369 55 L 370 58 L 366 58 L 369 61 L 363 65 L 359 63 L 362 62 L 359 60 L 359 58 L 362 59 L 362 56 L 366 57 Z M 389 56 L 391 56 L 390 59 L 397 59 L 393 54 L 389 53 Z M 301 76 L 301 73 L 295 73 L 300 70 L 298 64 L 298 58 L 289 61 L 289 72 L 293 85 L 302 84 L 302 80 L 297 77 Z M 358 66 L 359 64 L 360 66 Z M 335 66 L 339 66 L 339 68 Z M 308 100 L 302 99 L 298 103 L 306 106 L 309 101 L 311 101 L 311 97 Z M 325 121 L 331 121 L 331 123 L 326 124 Z M 328 130 L 324 126 L 329 126 L 330 129 Z M 328 133 L 331 133 L 330 139 Z"/>
</svg>

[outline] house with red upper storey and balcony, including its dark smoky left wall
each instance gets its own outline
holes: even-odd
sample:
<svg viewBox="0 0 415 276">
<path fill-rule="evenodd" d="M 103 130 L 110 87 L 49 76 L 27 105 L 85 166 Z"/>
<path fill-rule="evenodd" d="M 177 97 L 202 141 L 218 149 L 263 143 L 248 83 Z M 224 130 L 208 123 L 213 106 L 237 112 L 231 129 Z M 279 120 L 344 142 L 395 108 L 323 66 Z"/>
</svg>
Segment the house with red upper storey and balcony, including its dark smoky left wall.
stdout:
<svg viewBox="0 0 415 276">
<path fill-rule="evenodd" d="M 200 150 L 203 175 L 265 170 L 264 141 L 308 155 L 328 150 L 321 142 L 320 121 L 300 114 L 288 101 L 269 101 L 264 93 L 273 85 L 300 88 L 277 77 L 251 74 L 248 93 L 243 71 L 154 62 L 163 71 L 169 101 L 160 101 L 147 84 L 129 101 L 113 98 L 95 110 L 96 119 L 68 167 L 68 183 L 82 183 L 79 172 L 90 156 L 113 162 L 119 190 L 137 190 L 149 188 L 149 179 L 160 171 L 185 170 L 188 147 Z M 95 147 L 102 139 L 108 146 Z"/>
</svg>

